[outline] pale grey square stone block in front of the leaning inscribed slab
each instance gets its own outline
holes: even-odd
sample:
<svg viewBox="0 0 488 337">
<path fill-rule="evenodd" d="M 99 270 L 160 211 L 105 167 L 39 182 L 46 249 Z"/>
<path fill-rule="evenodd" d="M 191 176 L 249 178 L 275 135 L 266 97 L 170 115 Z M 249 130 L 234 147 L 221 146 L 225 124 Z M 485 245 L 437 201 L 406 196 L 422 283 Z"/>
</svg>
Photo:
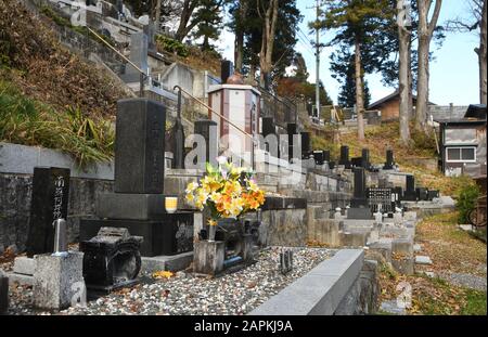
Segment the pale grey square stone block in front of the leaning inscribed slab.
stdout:
<svg viewBox="0 0 488 337">
<path fill-rule="evenodd" d="M 39 309 L 63 310 L 85 291 L 84 254 L 37 255 L 34 272 L 34 304 Z"/>
</svg>

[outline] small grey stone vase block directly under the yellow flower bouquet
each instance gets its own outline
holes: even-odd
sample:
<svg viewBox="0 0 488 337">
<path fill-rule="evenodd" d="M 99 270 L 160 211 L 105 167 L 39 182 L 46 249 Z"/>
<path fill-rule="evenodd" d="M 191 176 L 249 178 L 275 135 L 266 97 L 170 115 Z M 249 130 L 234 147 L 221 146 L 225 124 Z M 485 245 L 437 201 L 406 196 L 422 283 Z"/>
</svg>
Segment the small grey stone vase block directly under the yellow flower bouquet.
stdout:
<svg viewBox="0 0 488 337">
<path fill-rule="evenodd" d="M 216 275 L 223 270 L 226 245 L 223 241 L 195 243 L 193 272 L 197 274 Z"/>
</svg>

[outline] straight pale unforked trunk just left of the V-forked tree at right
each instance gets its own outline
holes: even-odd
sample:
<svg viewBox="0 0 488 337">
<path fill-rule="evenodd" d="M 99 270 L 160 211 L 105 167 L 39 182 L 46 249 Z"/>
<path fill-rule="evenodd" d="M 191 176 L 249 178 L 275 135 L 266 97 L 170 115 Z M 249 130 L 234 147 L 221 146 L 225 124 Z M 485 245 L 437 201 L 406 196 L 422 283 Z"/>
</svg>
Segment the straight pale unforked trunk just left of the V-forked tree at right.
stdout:
<svg viewBox="0 0 488 337">
<path fill-rule="evenodd" d="M 404 15 L 403 0 L 397 2 L 398 16 Z M 410 31 L 404 26 L 403 17 L 398 20 L 398 40 L 399 40 L 399 74 L 398 74 L 398 91 L 400 95 L 400 140 L 403 145 L 408 145 L 410 142 L 410 111 L 409 111 L 409 44 L 410 44 Z"/>
</svg>

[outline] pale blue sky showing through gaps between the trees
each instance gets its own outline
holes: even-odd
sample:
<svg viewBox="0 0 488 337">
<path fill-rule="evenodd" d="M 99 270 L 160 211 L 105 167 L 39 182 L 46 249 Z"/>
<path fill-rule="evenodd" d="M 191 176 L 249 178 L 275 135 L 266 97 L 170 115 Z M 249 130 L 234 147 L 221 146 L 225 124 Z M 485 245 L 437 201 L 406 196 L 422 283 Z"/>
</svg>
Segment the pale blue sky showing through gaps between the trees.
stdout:
<svg viewBox="0 0 488 337">
<path fill-rule="evenodd" d="M 447 0 L 442 2 L 439 24 L 459 15 L 468 15 L 468 0 Z M 314 10 L 309 9 L 314 0 L 298 0 L 298 8 L 304 15 L 300 28 L 305 34 L 309 33 L 308 23 L 314 20 Z M 332 33 L 322 34 L 321 41 L 330 41 Z M 314 39 L 311 35 L 309 39 Z M 305 39 L 304 39 L 305 40 Z M 447 34 L 446 40 L 439 50 L 433 43 L 436 60 L 431 63 L 431 102 L 439 105 L 467 105 L 479 103 L 478 94 L 478 61 L 474 49 L 478 46 L 478 36 L 473 34 Z M 230 31 L 223 31 L 219 40 L 219 49 L 223 56 L 233 60 L 234 37 Z M 298 39 L 296 50 L 301 52 L 310 73 L 309 80 L 316 80 L 316 61 L 309 43 Z M 333 48 L 326 48 L 321 53 L 320 78 L 325 85 L 330 96 L 337 102 L 339 83 L 332 78 L 330 72 L 330 55 Z M 381 82 L 380 75 L 368 75 L 368 83 L 372 102 L 391 93 L 395 88 L 386 88 Z"/>
</svg>

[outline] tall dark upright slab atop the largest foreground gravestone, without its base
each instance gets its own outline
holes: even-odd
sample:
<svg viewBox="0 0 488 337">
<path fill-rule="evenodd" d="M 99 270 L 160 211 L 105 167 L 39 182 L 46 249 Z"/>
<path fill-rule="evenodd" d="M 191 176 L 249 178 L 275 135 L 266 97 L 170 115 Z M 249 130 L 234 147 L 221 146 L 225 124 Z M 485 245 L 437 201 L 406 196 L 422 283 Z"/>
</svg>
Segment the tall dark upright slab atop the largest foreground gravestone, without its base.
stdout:
<svg viewBox="0 0 488 337">
<path fill-rule="evenodd" d="M 115 192 L 163 193 L 166 107 L 146 99 L 117 103 Z"/>
</svg>

